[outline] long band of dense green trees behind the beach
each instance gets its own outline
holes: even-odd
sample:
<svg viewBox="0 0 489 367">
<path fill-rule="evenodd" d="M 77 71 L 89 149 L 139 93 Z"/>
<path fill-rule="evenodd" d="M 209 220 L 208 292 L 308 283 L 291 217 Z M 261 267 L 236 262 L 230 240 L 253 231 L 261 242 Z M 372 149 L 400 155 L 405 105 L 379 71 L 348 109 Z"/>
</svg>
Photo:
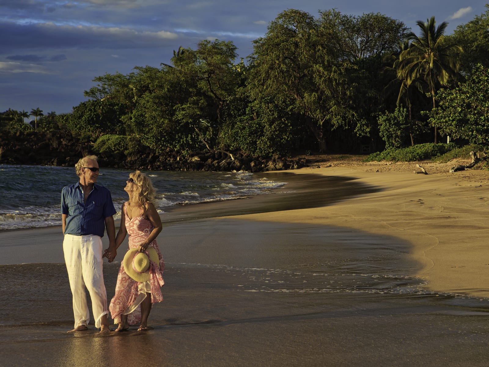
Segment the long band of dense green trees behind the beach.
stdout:
<svg viewBox="0 0 489 367">
<path fill-rule="evenodd" d="M 0 129 L 69 130 L 124 151 L 381 151 L 489 138 L 489 5 L 453 34 L 380 13 L 288 9 L 236 62 L 231 41 L 179 47 L 170 64 L 95 77 L 71 113 L 0 114 Z M 39 119 L 38 119 L 39 118 Z M 38 126 L 39 125 L 39 126 Z M 133 148 L 132 148 L 133 149 Z"/>
</svg>

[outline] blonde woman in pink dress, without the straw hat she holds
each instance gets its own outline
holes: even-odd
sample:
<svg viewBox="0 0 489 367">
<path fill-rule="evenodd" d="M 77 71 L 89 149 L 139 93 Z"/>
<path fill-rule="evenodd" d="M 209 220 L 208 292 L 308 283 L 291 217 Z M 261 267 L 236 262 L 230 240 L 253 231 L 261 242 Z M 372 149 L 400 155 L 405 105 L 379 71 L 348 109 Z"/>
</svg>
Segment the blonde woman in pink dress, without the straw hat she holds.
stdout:
<svg viewBox="0 0 489 367">
<path fill-rule="evenodd" d="M 149 281 L 139 282 L 126 273 L 124 264 L 121 263 L 115 295 L 109 306 L 114 324 L 119 324 L 115 331 L 127 330 L 129 325 L 137 323 L 140 323 L 138 330 L 147 330 L 152 303 L 163 301 L 161 286 L 164 282 L 161 273 L 165 264 L 156 243 L 162 225 L 152 203 L 156 191 L 150 179 L 143 173 L 136 171 L 129 177 L 124 188 L 124 191 L 129 194 L 129 201 L 122 206 L 121 224 L 115 237 L 115 248 L 120 246 L 129 233 L 129 249 L 137 248 L 143 252 L 148 247 L 153 247 L 158 254 L 159 264 L 150 267 Z M 108 253 L 106 256 L 109 261 L 112 261 L 116 252 Z"/>
</svg>

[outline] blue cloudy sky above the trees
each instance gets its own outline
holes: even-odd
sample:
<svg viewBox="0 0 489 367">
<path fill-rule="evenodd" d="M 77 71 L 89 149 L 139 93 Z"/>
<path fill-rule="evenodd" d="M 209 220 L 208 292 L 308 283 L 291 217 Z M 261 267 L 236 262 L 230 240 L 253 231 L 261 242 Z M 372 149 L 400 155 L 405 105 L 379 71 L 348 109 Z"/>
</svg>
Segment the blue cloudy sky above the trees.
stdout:
<svg viewBox="0 0 489 367">
<path fill-rule="evenodd" d="M 381 13 L 418 33 L 435 16 L 446 34 L 486 11 L 487 0 L 0 0 L 0 112 L 70 112 L 93 78 L 134 66 L 169 64 L 179 46 L 233 41 L 246 58 L 252 41 L 286 9 L 312 16 Z M 239 58 L 236 60 L 239 62 Z"/>
</svg>

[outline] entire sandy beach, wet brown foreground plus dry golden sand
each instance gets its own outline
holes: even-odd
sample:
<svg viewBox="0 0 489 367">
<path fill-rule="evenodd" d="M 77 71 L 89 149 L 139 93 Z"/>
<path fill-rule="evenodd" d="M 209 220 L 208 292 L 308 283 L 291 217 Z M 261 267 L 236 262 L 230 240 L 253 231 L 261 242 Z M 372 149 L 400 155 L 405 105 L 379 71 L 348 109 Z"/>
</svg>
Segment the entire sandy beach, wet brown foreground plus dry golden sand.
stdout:
<svg viewBox="0 0 489 367">
<path fill-rule="evenodd" d="M 66 334 L 60 229 L 0 232 L 0 366 L 487 366 L 489 172 L 462 163 L 323 156 L 265 173 L 289 178 L 273 194 L 176 208 L 145 332 Z"/>
</svg>

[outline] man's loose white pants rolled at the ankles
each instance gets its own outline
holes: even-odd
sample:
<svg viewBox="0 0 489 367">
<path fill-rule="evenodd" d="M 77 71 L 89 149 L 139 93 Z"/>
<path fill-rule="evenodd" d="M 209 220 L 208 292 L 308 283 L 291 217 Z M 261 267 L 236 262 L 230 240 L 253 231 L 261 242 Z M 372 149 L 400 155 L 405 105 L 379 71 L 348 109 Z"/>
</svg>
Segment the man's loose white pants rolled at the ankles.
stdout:
<svg viewBox="0 0 489 367">
<path fill-rule="evenodd" d="M 102 274 L 102 239 L 94 235 L 65 235 L 63 251 L 73 295 L 75 328 L 79 325 L 88 325 L 90 321 L 85 286 L 90 293 L 95 327 L 100 328 L 100 318 L 109 313 Z"/>
</svg>

